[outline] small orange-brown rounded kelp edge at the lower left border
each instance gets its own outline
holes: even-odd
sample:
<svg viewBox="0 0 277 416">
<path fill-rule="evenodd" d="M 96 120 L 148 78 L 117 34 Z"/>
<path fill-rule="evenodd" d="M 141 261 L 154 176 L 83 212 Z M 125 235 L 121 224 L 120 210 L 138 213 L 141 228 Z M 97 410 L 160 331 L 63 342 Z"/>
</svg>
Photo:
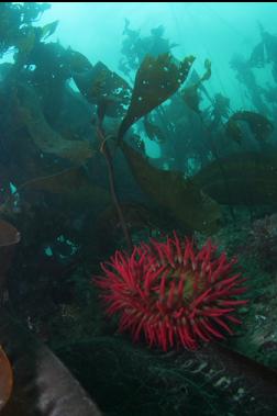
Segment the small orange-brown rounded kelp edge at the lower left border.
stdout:
<svg viewBox="0 0 277 416">
<path fill-rule="evenodd" d="M 12 392 L 13 374 L 10 361 L 0 345 L 0 412 Z"/>
</svg>

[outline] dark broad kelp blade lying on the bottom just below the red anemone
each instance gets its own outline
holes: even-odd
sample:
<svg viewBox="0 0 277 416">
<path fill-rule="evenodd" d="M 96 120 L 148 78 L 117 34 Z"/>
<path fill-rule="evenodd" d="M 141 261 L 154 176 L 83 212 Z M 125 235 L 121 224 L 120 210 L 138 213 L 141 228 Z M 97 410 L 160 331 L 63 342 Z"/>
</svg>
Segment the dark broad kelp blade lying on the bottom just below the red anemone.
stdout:
<svg viewBox="0 0 277 416">
<path fill-rule="evenodd" d="M 104 336 L 73 340 L 57 352 L 91 394 L 97 391 L 107 415 L 114 408 L 115 415 L 147 416 L 273 416 L 277 412 L 276 372 L 219 342 L 164 355 L 140 345 L 134 348 L 123 337 Z M 126 396 L 132 400 L 126 402 Z"/>
</svg>

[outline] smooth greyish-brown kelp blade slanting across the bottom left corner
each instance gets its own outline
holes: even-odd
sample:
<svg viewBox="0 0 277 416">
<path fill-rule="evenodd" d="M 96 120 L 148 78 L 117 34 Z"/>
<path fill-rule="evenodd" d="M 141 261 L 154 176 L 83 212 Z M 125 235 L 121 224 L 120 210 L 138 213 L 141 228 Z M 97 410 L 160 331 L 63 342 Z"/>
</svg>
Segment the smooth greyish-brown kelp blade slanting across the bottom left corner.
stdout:
<svg viewBox="0 0 277 416">
<path fill-rule="evenodd" d="M 10 357 L 14 379 L 1 416 L 100 416 L 96 404 L 58 358 L 3 310 L 0 345 Z"/>
</svg>

